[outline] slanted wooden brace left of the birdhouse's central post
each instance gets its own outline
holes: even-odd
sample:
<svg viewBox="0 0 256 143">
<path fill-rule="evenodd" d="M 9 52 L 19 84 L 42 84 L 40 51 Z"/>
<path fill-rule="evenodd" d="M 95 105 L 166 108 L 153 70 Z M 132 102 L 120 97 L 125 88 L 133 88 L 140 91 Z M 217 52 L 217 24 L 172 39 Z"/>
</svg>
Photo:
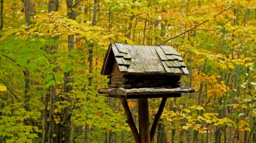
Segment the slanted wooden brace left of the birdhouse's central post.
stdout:
<svg viewBox="0 0 256 143">
<path fill-rule="evenodd" d="M 126 99 L 120 98 L 120 100 L 122 102 L 123 109 L 125 109 L 125 115 L 127 118 L 126 123 L 129 125 L 129 127 L 131 129 L 131 133 L 133 133 L 134 141 L 136 143 L 142 143 L 141 137 L 139 136 L 138 129 L 136 128 L 136 125 L 134 124 L 133 116 L 131 115 L 131 111 L 130 111 L 130 108 L 128 106 Z"/>
</svg>

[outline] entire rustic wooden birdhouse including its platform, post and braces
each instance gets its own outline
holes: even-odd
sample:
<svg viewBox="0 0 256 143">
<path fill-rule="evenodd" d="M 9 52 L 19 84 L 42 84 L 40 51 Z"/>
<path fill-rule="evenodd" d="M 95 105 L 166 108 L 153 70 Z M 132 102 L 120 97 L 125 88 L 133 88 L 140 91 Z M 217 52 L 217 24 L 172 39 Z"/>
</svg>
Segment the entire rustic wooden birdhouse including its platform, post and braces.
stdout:
<svg viewBox="0 0 256 143">
<path fill-rule="evenodd" d="M 108 75 L 109 88 L 98 89 L 98 93 L 120 98 L 136 143 L 152 142 L 168 97 L 195 92 L 180 87 L 180 76 L 187 75 L 188 70 L 171 46 L 110 44 L 101 74 Z M 138 98 L 139 132 L 126 100 L 129 98 Z M 162 98 L 151 127 L 148 98 Z"/>
</svg>

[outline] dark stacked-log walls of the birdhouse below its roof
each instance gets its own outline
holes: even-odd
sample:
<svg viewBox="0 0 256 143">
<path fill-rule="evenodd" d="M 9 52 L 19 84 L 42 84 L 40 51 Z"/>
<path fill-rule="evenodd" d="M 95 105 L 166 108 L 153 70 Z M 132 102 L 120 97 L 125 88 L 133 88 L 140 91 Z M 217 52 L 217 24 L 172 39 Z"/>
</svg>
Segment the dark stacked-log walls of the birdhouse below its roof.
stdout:
<svg viewBox="0 0 256 143">
<path fill-rule="evenodd" d="M 113 72 L 108 76 L 110 88 L 177 88 L 180 76 L 131 75 Z"/>
</svg>

